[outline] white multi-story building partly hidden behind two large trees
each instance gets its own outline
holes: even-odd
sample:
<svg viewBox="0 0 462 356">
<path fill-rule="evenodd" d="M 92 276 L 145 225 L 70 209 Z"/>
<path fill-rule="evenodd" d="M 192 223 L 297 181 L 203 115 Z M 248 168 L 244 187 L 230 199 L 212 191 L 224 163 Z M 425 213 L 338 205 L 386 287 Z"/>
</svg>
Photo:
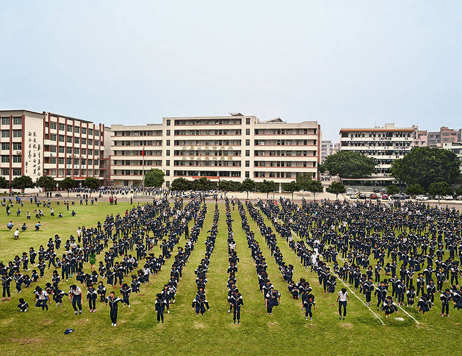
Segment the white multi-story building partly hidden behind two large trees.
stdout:
<svg viewBox="0 0 462 356">
<path fill-rule="evenodd" d="M 372 128 L 341 128 L 341 150 L 360 152 L 377 161 L 375 174 L 355 180 L 371 180 L 375 184 L 394 180 L 389 174 L 391 164 L 411 151 L 416 131 L 417 126 L 395 127 L 392 123 Z"/>
</svg>

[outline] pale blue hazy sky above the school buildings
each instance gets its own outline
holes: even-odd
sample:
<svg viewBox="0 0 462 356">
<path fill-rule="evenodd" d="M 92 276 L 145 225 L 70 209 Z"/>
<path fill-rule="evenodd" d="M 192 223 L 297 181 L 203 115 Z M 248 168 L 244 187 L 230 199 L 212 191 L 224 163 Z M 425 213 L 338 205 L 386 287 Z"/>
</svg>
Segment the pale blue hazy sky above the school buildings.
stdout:
<svg viewBox="0 0 462 356">
<path fill-rule="evenodd" d="M 462 1 L 3 1 L 0 109 L 462 127 Z"/>
</svg>

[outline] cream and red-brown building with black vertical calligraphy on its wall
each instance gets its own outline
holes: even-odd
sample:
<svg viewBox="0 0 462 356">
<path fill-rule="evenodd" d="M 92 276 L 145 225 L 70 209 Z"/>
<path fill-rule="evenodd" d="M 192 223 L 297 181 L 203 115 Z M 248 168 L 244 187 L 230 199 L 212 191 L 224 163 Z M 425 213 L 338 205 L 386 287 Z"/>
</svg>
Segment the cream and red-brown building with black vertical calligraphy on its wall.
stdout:
<svg viewBox="0 0 462 356">
<path fill-rule="evenodd" d="M 0 110 L 0 120 L 0 175 L 6 179 L 24 174 L 32 180 L 42 175 L 103 180 L 103 124 L 28 110 Z"/>
</svg>

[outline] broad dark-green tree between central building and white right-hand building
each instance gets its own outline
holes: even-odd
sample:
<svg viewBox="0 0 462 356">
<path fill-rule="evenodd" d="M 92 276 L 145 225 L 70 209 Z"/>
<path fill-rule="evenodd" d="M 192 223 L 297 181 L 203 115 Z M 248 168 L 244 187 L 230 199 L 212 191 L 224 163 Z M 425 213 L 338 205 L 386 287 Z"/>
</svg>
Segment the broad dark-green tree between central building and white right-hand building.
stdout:
<svg viewBox="0 0 462 356">
<path fill-rule="evenodd" d="M 342 178 L 364 178 L 375 172 L 375 159 L 354 151 L 338 151 L 327 156 L 322 163 L 322 170 L 331 176 Z"/>
</svg>

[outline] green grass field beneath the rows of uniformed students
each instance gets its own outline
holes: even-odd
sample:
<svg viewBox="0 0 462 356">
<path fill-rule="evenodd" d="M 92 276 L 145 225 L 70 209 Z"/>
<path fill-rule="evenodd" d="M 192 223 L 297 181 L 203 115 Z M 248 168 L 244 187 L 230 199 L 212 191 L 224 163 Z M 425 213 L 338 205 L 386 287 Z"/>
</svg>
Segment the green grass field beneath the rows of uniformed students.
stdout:
<svg viewBox="0 0 462 356">
<path fill-rule="evenodd" d="M 35 218 L 28 220 L 29 231 L 22 233 L 20 239 L 13 240 L 12 232 L 6 224 L 12 220 L 15 227 L 20 227 L 25 218 L 17 218 L 15 214 L 7 217 L 3 212 L 0 217 L 0 260 L 5 264 L 13 259 L 15 254 L 35 250 L 54 234 L 60 234 L 63 245 L 70 234 L 75 235 L 77 227 L 95 226 L 98 220 L 103 221 L 106 214 L 121 214 L 129 208 L 128 203 L 108 205 L 75 205 L 78 215 L 63 219 L 45 217 L 41 231 L 34 232 Z M 34 210 L 35 205 L 25 203 L 23 212 Z M 62 205 L 60 205 L 62 207 Z M 303 269 L 294 252 L 288 248 L 285 240 L 280 240 L 280 247 L 286 264 L 295 266 L 294 280 L 305 277 L 313 287 L 316 296 L 316 310 L 313 321 L 305 321 L 301 302 L 290 298 L 281 274 L 274 260 L 270 258 L 264 238 L 259 234 L 256 224 L 247 217 L 255 232 L 256 239 L 262 247 L 262 252 L 268 264 L 268 276 L 275 288 L 281 292 L 281 305 L 273 310 L 273 315 L 267 315 L 263 297 L 259 293 L 255 265 L 251 258 L 251 251 L 247 248 L 245 234 L 240 226 L 240 216 L 236 210 L 232 211 L 235 222 L 233 230 L 240 258 L 238 263 L 237 287 L 242 293 L 244 306 L 241 309 L 241 324 L 233 324 L 233 314 L 227 314 L 229 307 L 226 296 L 227 243 L 224 204 L 219 204 L 221 214 L 219 220 L 219 234 L 214 253 L 210 258 L 207 273 L 206 295 L 210 304 L 210 312 L 204 316 L 196 316 L 191 309 L 192 299 L 196 295 L 194 270 L 205 254 L 204 241 L 206 231 L 213 219 L 213 204 L 210 204 L 196 249 L 192 251 L 189 262 L 183 269 L 183 279 L 180 280 L 177 291 L 177 302 L 170 307 L 170 314 L 165 313 L 165 323 L 158 325 L 154 310 L 155 295 L 169 278 L 171 259 L 167 260 L 161 272 L 150 277 L 150 283 L 141 287 L 141 293 L 130 296 L 131 308 L 119 307 L 118 324 L 111 327 L 109 308 L 104 304 L 97 304 L 97 312 L 89 313 L 88 304 L 83 302 L 84 312 L 74 316 L 72 306 L 65 303 L 56 308 L 51 304 L 50 310 L 42 311 L 33 306 L 33 287 L 23 288 L 23 293 L 14 293 L 11 284 L 12 299 L 0 303 L 0 350 L 3 353 L 32 354 L 38 352 L 71 353 L 72 349 L 85 354 L 456 354 L 460 346 L 460 325 L 462 313 L 451 309 L 451 317 L 440 317 L 439 298 L 435 297 L 435 308 L 425 316 L 414 309 L 406 309 L 407 315 L 399 310 L 397 315 L 385 319 L 383 313 L 376 312 L 374 307 L 368 309 L 363 303 L 350 293 L 348 316 L 345 321 L 338 320 L 336 295 L 324 294 L 317 284 L 317 277 L 309 270 Z M 65 209 L 57 208 L 53 204 L 55 215 Z M 15 209 L 14 209 L 15 210 Z M 49 215 L 47 209 L 44 210 Z M 67 212 L 66 212 L 67 213 Z M 271 223 L 266 220 L 268 226 Z M 184 246 L 184 240 L 179 246 Z M 160 250 L 157 250 L 159 254 Z M 59 255 L 62 254 L 62 249 Z M 103 256 L 97 257 L 97 263 Z M 89 266 L 85 266 L 88 271 Z M 51 271 L 45 270 L 45 278 L 38 283 L 44 286 L 51 279 Z M 60 288 L 67 291 L 68 283 L 60 283 Z M 338 280 L 337 290 L 342 287 Z M 108 292 L 111 288 L 108 288 Z M 83 288 L 84 295 L 86 295 Z M 118 291 L 117 291 L 118 295 Z M 24 297 L 30 308 L 26 313 L 19 313 L 16 307 L 17 299 Z M 66 298 L 66 297 L 65 297 Z M 66 301 L 67 299 L 64 299 Z M 361 297 L 363 300 L 363 297 Z M 377 316 L 382 320 L 379 320 Z M 411 317 L 412 316 L 412 317 Z M 395 319 L 398 317 L 399 320 Z M 414 320 L 414 319 L 415 320 Z M 66 328 L 73 328 L 74 333 L 65 335 Z M 36 347 L 39 346 L 39 349 Z"/>
</svg>

